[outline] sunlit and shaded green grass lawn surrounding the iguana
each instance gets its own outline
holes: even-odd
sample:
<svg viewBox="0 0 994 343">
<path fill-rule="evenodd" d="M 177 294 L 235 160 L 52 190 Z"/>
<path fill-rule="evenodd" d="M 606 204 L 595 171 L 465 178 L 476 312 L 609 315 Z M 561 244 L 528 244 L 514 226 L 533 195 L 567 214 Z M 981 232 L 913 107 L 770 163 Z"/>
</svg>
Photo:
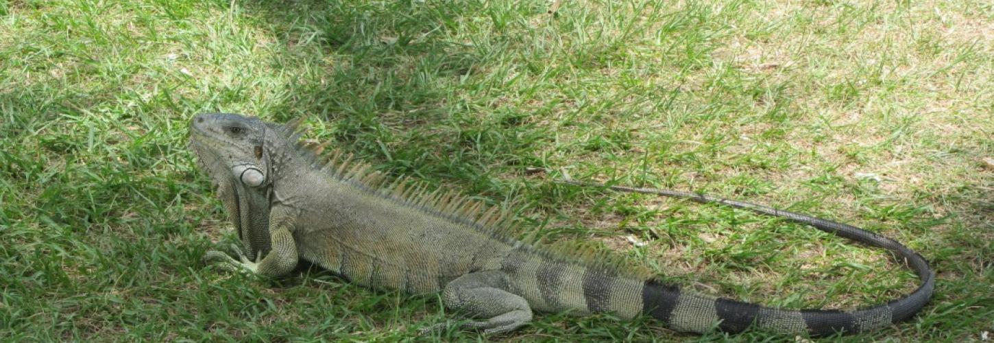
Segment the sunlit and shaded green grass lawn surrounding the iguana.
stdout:
<svg viewBox="0 0 994 343">
<path fill-rule="evenodd" d="M 309 115 L 309 139 L 512 208 L 528 235 L 768 305 L 887 301 L 915 278 L 810 228 L 553 181 L 704 191 L 863 226 L 920 252 L 938 281 L 910 321 L 847 339 L 994 331 L 991 4 L 547 8 L 0 1 L 0 337 L 398 341 L 446 317 L 433 296 L 315 268 L 275 281 L 206 268 L 233 234 L 186 127 L 219 110 Z M 439 335 L 422 339 L 490 339 Z M 793 339 L 564 314 L 492 338 Z"/>
</svg>

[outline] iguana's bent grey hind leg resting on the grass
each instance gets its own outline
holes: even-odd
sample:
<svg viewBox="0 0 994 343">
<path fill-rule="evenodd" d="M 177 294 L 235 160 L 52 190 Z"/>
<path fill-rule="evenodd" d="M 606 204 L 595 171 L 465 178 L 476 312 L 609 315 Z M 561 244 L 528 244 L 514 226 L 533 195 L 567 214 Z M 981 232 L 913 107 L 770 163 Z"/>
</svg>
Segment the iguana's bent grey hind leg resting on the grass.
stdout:
<svg viewBox="0 0 994 343">
<path fill-rule="evenodd" d="M 532 321 L 532 307 L 521 295 L 501 289 L 507 282 L 500 271 L 468 273 L 452 280 L 442 291 L 445 307 L 475 319 L 465 328 L 484 333 L 503 333 Z M 442 324 L 444 325 L 444 324 Z"/>
</svg>

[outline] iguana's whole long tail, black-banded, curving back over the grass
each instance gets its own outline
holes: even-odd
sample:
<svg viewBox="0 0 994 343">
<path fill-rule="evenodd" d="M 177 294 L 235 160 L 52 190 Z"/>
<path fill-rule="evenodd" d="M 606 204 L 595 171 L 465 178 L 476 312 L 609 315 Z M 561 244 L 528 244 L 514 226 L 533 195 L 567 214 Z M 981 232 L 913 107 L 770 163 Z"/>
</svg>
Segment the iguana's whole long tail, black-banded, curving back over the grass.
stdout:
<svg viewBox="0 0 994 343">
<path fill-rule="evenodd" d="M 577 182 L 570 182 L 580 184 Z M 588 184 L 580 184 L 590 186 Z M 592 185 L 605 187 L 603 185 Z M 702 194 L 620 186 L 612 190 L 718 203 L 782 217 L 818 230 L 886 249 L 903 259 L 919 276 L 921 285 L 911 294 L 857 309 L 780 309 L 728 298 L 682 292 L 676 285 L 617 275 L 607 268 L 557 261 L 526 251 L 516 251 L 502 262 L 509 289 L 529 300 L 537 310 L 576 313 L 614 312 L 621 317 L 649 315 L 677 331 L 706 332 L 714 327 L 735 333 L 755 327 L 783 334 L 827 336 L 881 329 L 910 318 L 928 302 L 934 273 L 928 262 L 901 243 L 850 225 L 744 202 Z"/>
</svg>

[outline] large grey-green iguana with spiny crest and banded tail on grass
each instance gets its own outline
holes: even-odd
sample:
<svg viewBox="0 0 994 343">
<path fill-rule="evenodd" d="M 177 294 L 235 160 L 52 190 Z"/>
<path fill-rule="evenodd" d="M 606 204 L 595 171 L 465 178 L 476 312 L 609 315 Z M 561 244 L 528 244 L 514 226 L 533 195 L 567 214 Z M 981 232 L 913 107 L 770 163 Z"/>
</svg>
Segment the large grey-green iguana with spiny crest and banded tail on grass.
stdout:
<svg viewBox="0 0 994 343">
<path fill-rule="evenodd" d="M 697 294 L 610 259 L 516 241 L 507 230 L 508 216 L 496 208 L 409 186 L 403 179 L 388 183 L 341 153 L 319 158 L 321 148 L 315 152 L 300 142 L 298 125 L 299 120 L 283 125 L 228 113 L 193 118 L 191 147 L 218 186 L 242 241 L 236 247 L 240 258 L 210 251 L 209 263 L 280 276 L 305 259 L 366 286 L 440 291 L 447 308 L 476 320 L 462 327 L 485 333 L 525 325 L 533 311 L 569 311 L 648 315 L 669 328 L 698 333 L 755 327 L 783 334 L 848 334 L 908 319 L 934 286 L 923 257 L 859 228 L 700 194 L 610 187 L 720 203 L 811 225 L 884 248 L 921 280 L 903 298 L 851 310 L 770 308 Z"/>
</svg>

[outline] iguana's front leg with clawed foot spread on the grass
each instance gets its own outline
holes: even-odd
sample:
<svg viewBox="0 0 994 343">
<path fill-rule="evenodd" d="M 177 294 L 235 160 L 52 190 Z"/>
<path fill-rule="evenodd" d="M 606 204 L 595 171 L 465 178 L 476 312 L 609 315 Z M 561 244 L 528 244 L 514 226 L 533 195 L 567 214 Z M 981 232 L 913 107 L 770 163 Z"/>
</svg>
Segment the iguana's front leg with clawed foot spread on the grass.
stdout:
<svg viewBox="0 0 994 343">
<path fill-rule="evenodd" d="M 269 240 L 272 249 L 264 257 L 256 252 L 254 260 L 248 259 L 241 249 L 236 249 L 239 259 L 235 259 L 228 254 L 219 251 L 209 251 L 204 256 L 208 264 L 215 264 L 227 270 L 248 271 L 266 277 L 277 277 L 284 275 L 297 265 L 297 245 L 293 241 L 292 217 L 285 211 L 276 211 L 269 214 Z M 248 229 L 252 230 L 252 229 Z"/>
</svg>

